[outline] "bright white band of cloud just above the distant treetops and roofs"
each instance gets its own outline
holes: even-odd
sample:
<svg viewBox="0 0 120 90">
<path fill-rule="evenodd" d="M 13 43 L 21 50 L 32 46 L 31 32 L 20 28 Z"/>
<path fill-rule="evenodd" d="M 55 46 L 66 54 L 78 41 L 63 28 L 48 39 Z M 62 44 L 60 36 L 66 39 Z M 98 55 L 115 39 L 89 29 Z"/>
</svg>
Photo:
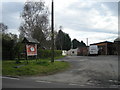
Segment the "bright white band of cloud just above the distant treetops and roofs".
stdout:
<svg viewBox="0 0 120 90">
<path fill-rule="evenodd" d="M 114 41 L 118 36 L 117 34 L 112 34 L 112 33 L 86 32 L 86 31 L 72 30 L 70 28 L 64 28 L 63 31 L 65 33 L 69 33 L 72 40 L 76 38 L 79 41 L 83 40 L 86 43 L 86 38 L 88 38 L 89 44 L 102 42 L 102 41 Z"/>
</svg>

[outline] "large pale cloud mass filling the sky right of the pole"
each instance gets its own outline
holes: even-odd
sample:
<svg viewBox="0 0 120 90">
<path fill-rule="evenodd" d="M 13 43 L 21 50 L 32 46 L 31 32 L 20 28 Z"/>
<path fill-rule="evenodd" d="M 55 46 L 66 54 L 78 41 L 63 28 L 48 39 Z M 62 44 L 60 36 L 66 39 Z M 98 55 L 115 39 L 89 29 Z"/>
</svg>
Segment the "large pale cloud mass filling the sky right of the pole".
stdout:
<svg viewBox="0 0 120 90">
<path fill-rule="evenodd" d="M 78 2 L 77 6 L 79 6 L 79 3 L 82 4 L 85 2 Z M 93 3 L 93 5 L 94 4 L 96 3 Z M 112 12 L 105 6 L 105 4 L 97 3 L 97 5 L 101 5 L 101 7 L 97 7 L 98 9 L 93 5 L 91 3 L 89 5 L 91 8 L 86 10 L 81 7 L 77 7 L 76 9 L 76 6 L 69 6 L 74 9 L 66 8 L 62 11 L 65 13 L 56 11 L 56 22 L 63 24 L 65 27 L 69 26 L 75 30 L 81 29 L 94 32 L 117 33 L 117 16 L 112 15 Z M 108 11 L 107 13 L 106 10 Z"/>
</svg>

